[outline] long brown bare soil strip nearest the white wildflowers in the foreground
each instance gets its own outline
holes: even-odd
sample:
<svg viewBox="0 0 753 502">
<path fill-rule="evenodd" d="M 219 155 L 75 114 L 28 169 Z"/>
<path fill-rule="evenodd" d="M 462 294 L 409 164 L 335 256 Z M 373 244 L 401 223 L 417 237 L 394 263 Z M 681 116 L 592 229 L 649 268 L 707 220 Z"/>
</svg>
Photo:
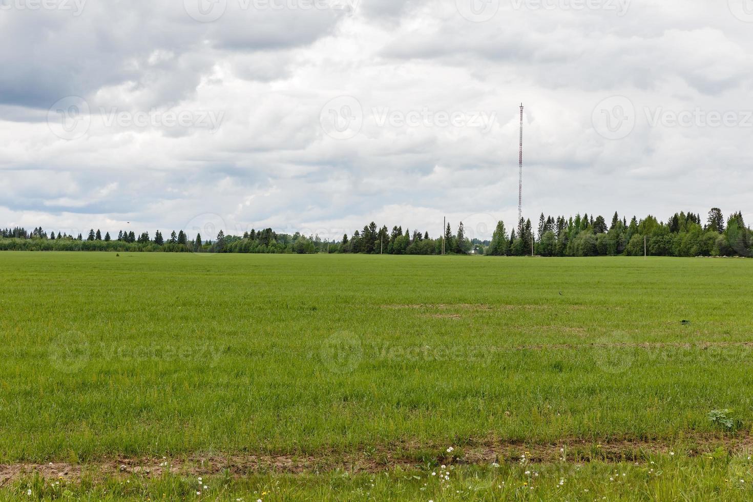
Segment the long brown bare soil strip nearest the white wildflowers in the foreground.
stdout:
<svg viewBox="0 0 753 502">
<path fill-rule="evenodd" d="M 728 452 L 753 451 L 753 437 L 689 435 L 675 440 L 612 440 L 594 443 L 590 440 L 569 439 L 557 443 L 495 442 L 472 443 L 456 447 L 452 453 L 428 456 L 428 452 L 444 452 L 444 446 L 404 445 L 394 451 L 323 453 L 321 455 L 192 455 L 182 458 L 110 458 L 90 464 L 10 464 L 0 465 L 0 487 L 21 476 L 38 473 L 46 479 L 94 479 L 103 476 L 148 477 L 165 473 L 183 476 L 211 476 L 229 472 L 232 476 L 253 473 L 316 474 L 334 470 L 352 473 L 377 473 L 395 467 L 417 468 L 427 464 L 489 465 L 504 462 L 582 464 L 590 461 L 642 461 L 654 454 L 675 452 L 697 456 L 724 448 Z M 399 452 L 399 453 L 398 453 Z"/>
</svg>

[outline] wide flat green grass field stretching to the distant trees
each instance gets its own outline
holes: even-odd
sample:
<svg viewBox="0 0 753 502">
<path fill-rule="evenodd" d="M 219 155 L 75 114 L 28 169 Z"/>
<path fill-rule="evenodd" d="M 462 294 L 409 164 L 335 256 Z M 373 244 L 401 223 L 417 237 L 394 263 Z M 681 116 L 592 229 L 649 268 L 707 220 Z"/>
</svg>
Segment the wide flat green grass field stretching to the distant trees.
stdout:
<svg viewBox="0 0 753 502">
<path fill-rule="evenodd" d="M 5 252 L 0 310 L 0 497 L 753 496 L 751 260 Z"/>
</svg>

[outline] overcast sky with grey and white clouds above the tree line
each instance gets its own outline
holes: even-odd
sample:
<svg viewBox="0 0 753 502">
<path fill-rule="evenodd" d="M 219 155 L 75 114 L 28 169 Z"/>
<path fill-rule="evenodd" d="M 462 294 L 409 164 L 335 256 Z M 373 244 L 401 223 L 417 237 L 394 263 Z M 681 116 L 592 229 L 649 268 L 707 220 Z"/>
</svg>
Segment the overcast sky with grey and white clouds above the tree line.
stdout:
<svg viewBox="0 0 753 502">
<path fill-rule="evenodd" d="M 753 221 L 751 0 L 0 0 L 0 33 L 0 227 L 483 237 L 521 102 L 524 216 Z"/>
</svg>

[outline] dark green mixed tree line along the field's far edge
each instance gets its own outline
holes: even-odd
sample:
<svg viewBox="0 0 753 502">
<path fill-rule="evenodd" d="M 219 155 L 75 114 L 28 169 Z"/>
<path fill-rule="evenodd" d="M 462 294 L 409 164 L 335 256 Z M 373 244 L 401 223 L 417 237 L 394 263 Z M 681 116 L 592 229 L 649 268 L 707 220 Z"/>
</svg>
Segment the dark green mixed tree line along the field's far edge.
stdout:
<svg viewBox="0 0 753 502">
<path fill-rule="evenodd" d="M 212 240 L 213 239 L 213 240 Z M 491 241 L 468 239 L 462 222 L 456 231 L 450 224 L 444 236 L 431 238 L 428 232 L 402 227 L 378 227 L 371 222 L 352 236 L 340 240 L 322 240 L 319 236 L 288 235 L 272 229 L 252 230 L 242 236 L 224 235 L 202 240 L 189 238 L 183 230 L 169 237 L 159 230 L 150 236 L 144 232 L 120 231 L 111 236 L 90 230 L 70 236 L 41 227 L 31 232 L 23 228 L 0 230 L 0 251 L 166 251 L 200 253 L 359 253 L 359 254 L 488 254 L 493 256 L 587 257 L 587 256 L 753 256 L 753 231 L 745 225 L 742 211 L 724 218 L 712 208 L 705 221 L 700 214 L 675 213 L 666 222 L 654 216 L 627 221 L 615 212 L 611 221 L 588 214 L 565 218 L 545 217 L 538 226 L 530 220 L 518 221 L 508 229 L 499 221 Z"/>
</svg>

